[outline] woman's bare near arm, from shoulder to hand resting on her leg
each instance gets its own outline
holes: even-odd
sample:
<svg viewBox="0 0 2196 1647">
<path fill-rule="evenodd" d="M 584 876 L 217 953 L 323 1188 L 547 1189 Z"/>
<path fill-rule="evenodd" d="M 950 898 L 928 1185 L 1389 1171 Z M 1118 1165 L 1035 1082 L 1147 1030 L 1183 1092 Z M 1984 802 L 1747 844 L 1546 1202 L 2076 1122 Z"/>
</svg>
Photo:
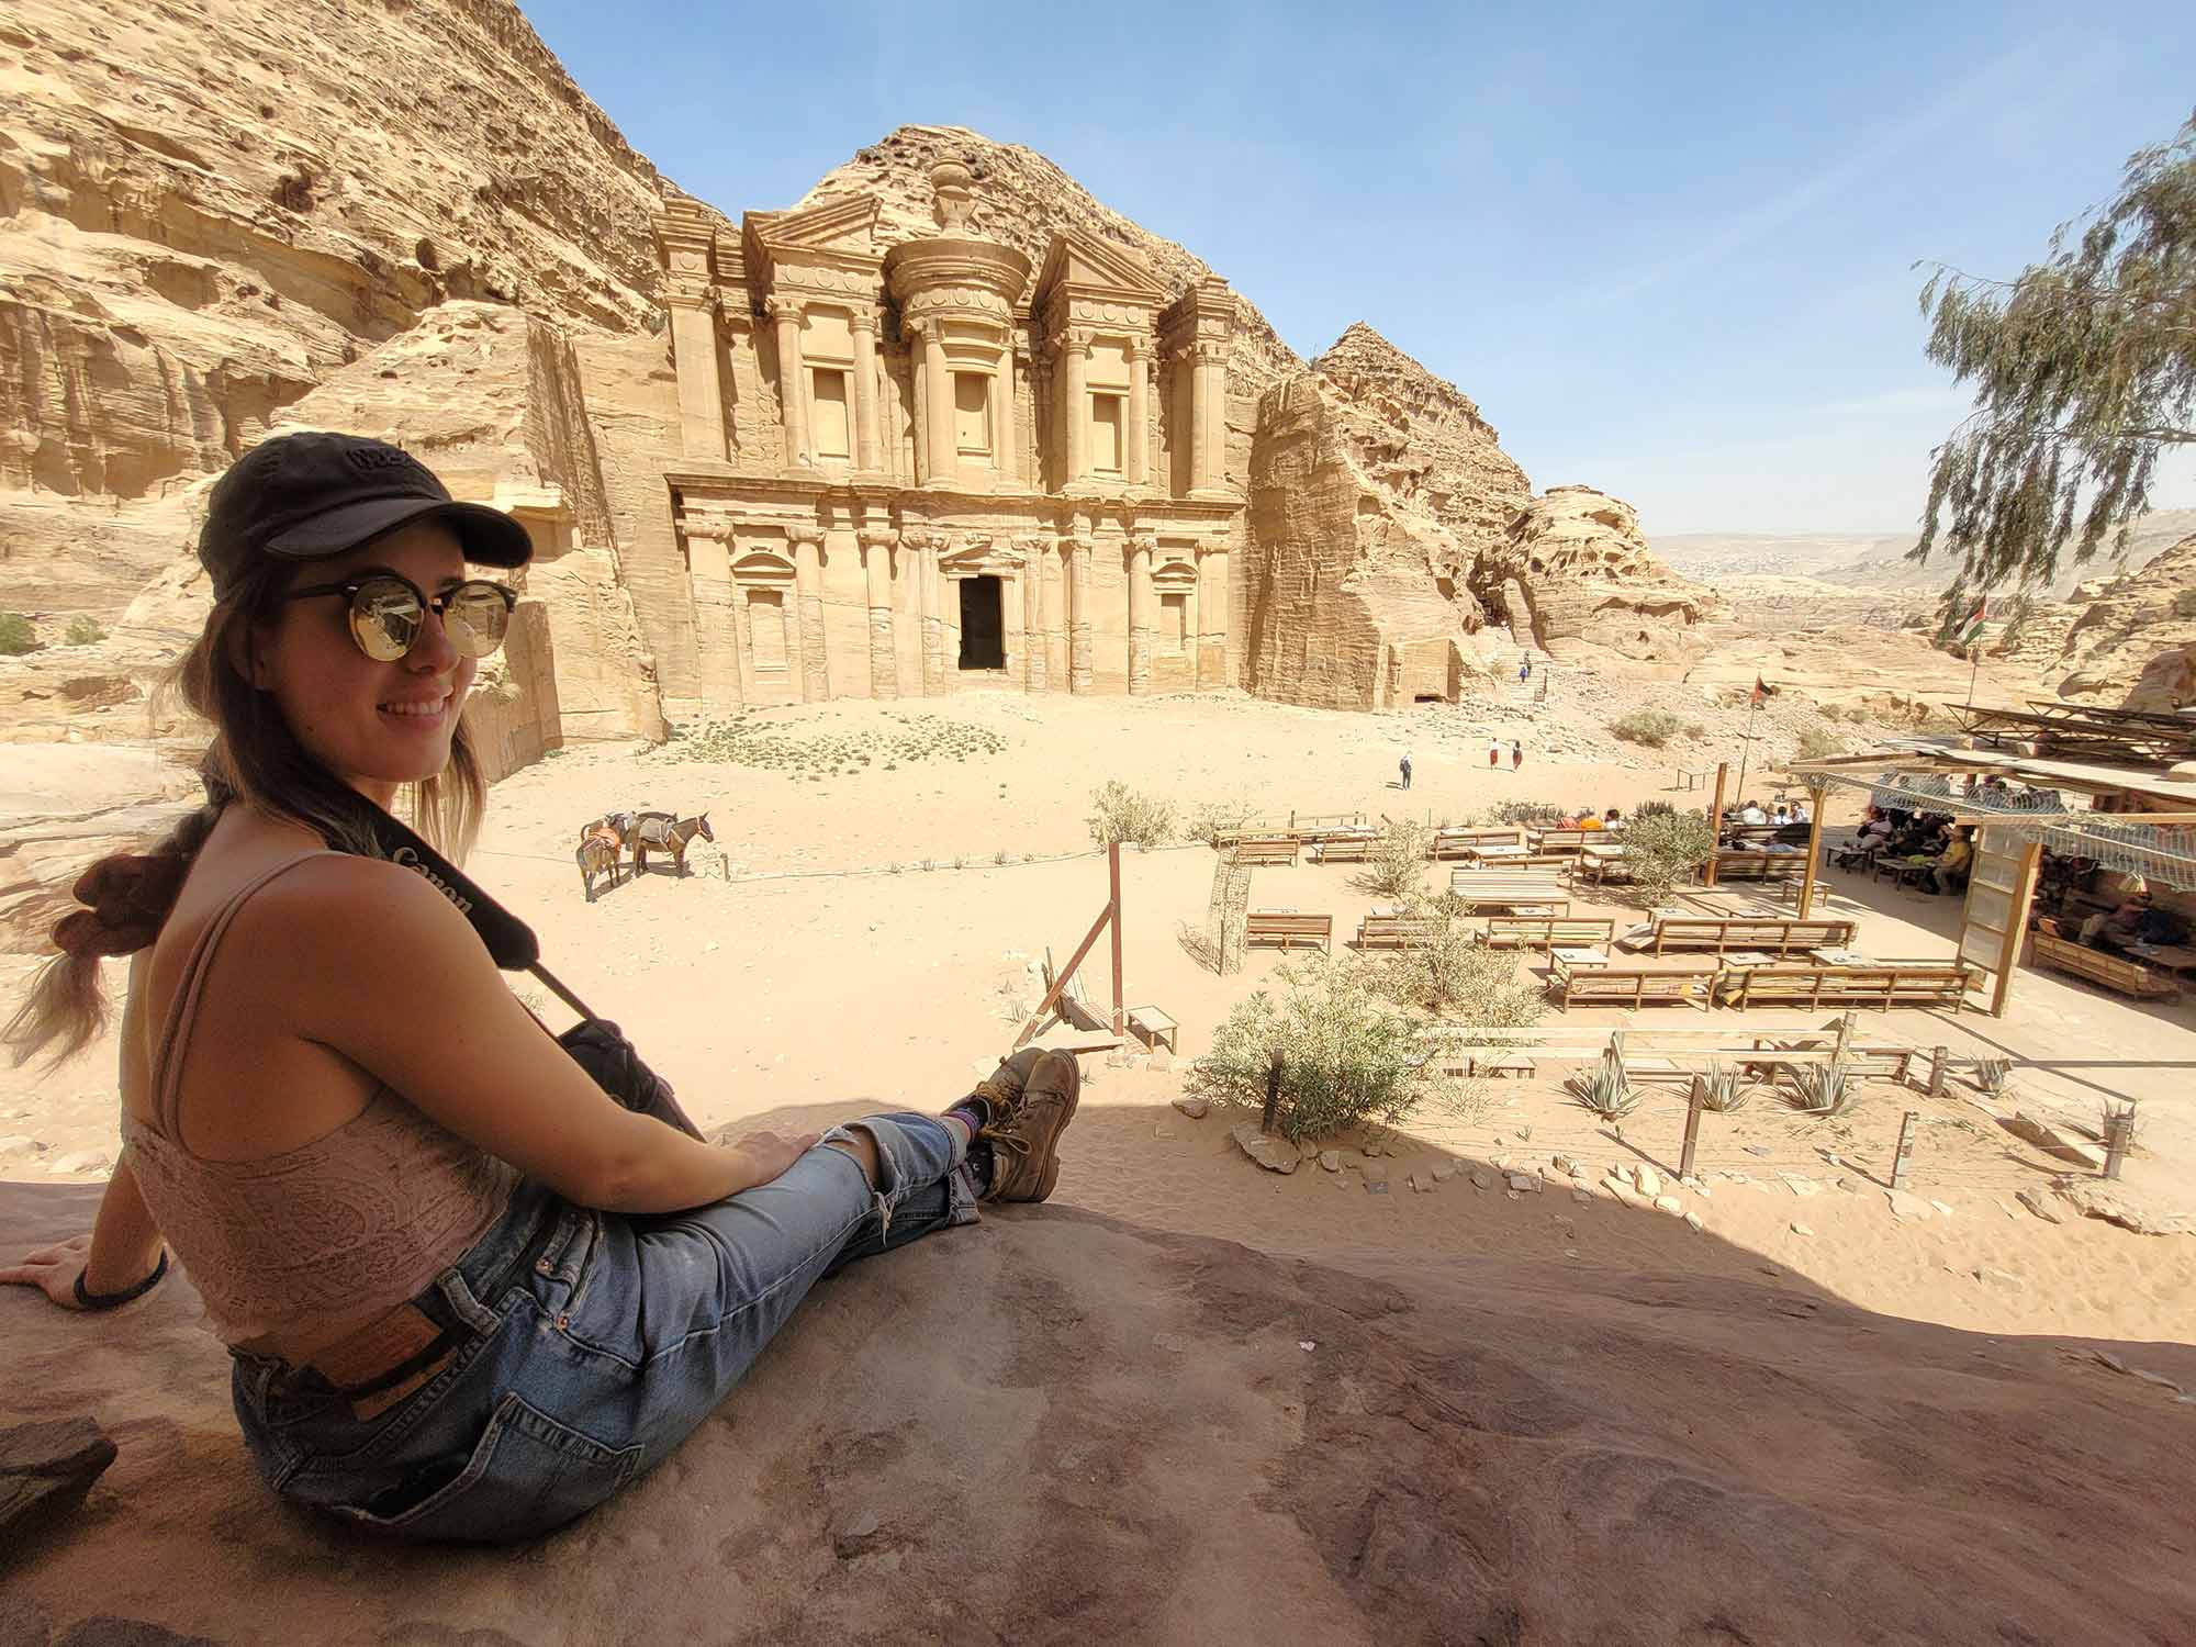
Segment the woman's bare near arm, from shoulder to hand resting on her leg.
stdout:
<svg viewBox="0 0 2196 1647">
<path fill-rule="evenodd" d="M 408 870 L 321 859 L 253 898 L 246 922 L 231 944 L 250 944 L 270 1017 L 582 1206 L 679 1212 L 766 1184 L 815 1144 L 755 1133 L 718 1149 L 624 1109 L 527 1015 L 466 918 Z"/>
</svg>

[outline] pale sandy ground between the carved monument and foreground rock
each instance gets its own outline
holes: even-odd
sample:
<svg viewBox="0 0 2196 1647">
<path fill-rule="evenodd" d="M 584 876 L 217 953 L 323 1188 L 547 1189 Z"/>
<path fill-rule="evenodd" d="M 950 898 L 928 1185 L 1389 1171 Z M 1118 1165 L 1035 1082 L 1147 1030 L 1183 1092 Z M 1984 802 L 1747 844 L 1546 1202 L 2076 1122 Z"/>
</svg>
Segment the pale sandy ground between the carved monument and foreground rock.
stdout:
<svg viewBox="0 0 2196 1647">
<path fill-rule="evenodd" d="M 1028 966 L 1065 957 L 1105 900 L 1105 859 L 1089 852 L 1089 791 L 1120 777 L 1177 802 L 1256 797 L 1274 813 L 1467 817 L 1495 799 L 1636 806 L 1673 788 L 1673 766 L 1557 766 L 1526 760 L 1489 773 L 1484 740 L 1438 707 L 1390 716 L 1324 714 L 1243 698 L 1127 703 L 973 694 L 951 703 L 834 703 L 749 718 L 775 736 L 780 764 L 683 758 L 692 744 L 635 753 L 586 749 L 547 760 L 494 791 L 474 874 L 525 916 L 549 966 L 597 1012 L 621 1021 L 705 1124 L 826 1120 L 872 1107 L 935 1109 L 1008 1045 L 1034 1004 Z M 1410 749 L 1416 780 L 1397 786 Z M 1528 747 L 1531 749 L 1531 747 Z M 867 753 L 867 764 L 861 755 Z M 826 771 L 830 775 L 826 775 Z M 20 784 L 22 786 L 22 784 Z M 1757 786 L 1759 788 L 1759 786 Z M 24 806 L 59 813 L 61 797 Z M 696 843 L 690 874 L 650 874 L 589 905 L 571 861 L 578 824 L 613 806 L 707 810 L 716 850 Z M 997 859 L 1006 861 L 997 861 Z M 927 865 L 927 867 L 925 867 Z M 1181 944 L 1203 920 L 1214 856 L 1201 845 L 1127 852 L 1124 962 L 1131 1004 L 1181 1023 L 1181 1054 L 1206 1050 L 1232 1001 L 1280 964 L 1254 951 L 1245 973 L 1214 977 Z M 1430 885 L 1434 870 L 1430 867 Z M 1344 865 L 1261 870 L 1254 907 L 1329 909 L 1355 931 L 1372 894 Z M 1728 909 L 1763 898 L 1726 892 Z M 1599 914 L 1583 900 L 1579 914 Z M 1621 905 L 1612 914 L 1627 916 Z M 1950 955 L 1957 905 L 1831 876 L 1829 911 L 1862 922 L 1871 955 Z M 1522 966 L 1535 964 L 1520 960 Z M 0 984 L 29 973 L 0 957 Z M 1087 964 L 1107 999 L 1105 944 Z M 562 1023 L 547 990 L 516 986 Z M 1704 1015 L 1649 1008 L 1643 1028 L 1818 1026 L 1829 1015 Z M 1561 1015 L 1550 1012 L 1550 1023 Z M 1570 1019 L 1616 1026 L 1614 1010 Z M 1456 1113 L 1425 1113 L 1392 1140 L 1383 1190 L 1366 1173 L 1315 1166 L 1278 1177 L 1252 1166 L 1221 1118 L 1168 1107 L 1184 1072 L 1087 1061 L 1091 1085 L 1065 1149 L 1058 1199 L 1153 1228 L 1232 1236 L 1276 1252 L 1502 1254 L 1568 1267 L 1704 1271 L 1812 1282 L 1838 1298 L 1985 1333 L 2183 1340 L 2196 1320 L 2196 1239 L 2137 1236 L 2069 1217 L 2044 1223 L 2014 1197 L 2051 1164 L 1996 1124 L 2047 1109 L 2095 1124 L 2104 1096 L 2143 1100 L 2130 1184 L 2183 1206 L 2196 1164 L 2196 1012 L 2139 1006 L 2071 979 L 2023 971 L 2007 1019 L 1862 1015 L 1862 1039 L 1948 1045 L 2023 1058 L 2012 1102 L 1965 1080 L 1930 1100 L 1875 1085 L 1851 1122 L 1812 1122 L 1761 1094 L 1737 1116 L 1706 1118 L 1702 1219 L 1621 1206 L 1566 1186 L 1513 1197 L 1476 1190 L 1469 1168 L 1535 1170 L 1553 1153 L 1590 1166 L 1676 1164 L 1678 1085 L 1660 1085 L 1612 1135 L 1559 1089 L 1566 1069 L 1489 1083 Z M 0 1076 L 0 1179 L 88 1179 L 114 1151 L 112 1045 L 53 1076 Z M 1900 1118 L 1919 1113 L 1913 1190 L 1926 1219 L 1895 1217 L 1884 1192 Z M 1829 1159 L 1836 1157 L 1836 1159 Z M 1414 1168 L 1463 1162 L 1430 1190 Z"/>
</svg>

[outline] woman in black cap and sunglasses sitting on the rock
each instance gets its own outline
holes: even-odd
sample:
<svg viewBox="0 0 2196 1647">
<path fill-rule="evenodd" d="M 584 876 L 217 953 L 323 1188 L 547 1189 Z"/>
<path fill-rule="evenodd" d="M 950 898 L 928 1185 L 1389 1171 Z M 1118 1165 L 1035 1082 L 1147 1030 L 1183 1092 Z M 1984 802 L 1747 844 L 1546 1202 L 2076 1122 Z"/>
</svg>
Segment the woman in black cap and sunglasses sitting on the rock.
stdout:
<svg viewBox="0 0 2196 1647">
<path fill-rule="evenodd" d="M 132 957 L 123 1157 L 92 1234 L 0 1282 L 110 1309 L 173 1247 L 274 1491 L 542 1533 L 670 1456 L 821 1276 L 1052 1192 L 1074 1058 L 1017 1054 L 942 1118 L 709 1146 L 606 1096 L 380 854 L 406 788 L 435 845 L 479 826 L 459 714 L 512 593 L 466 564 L 523 567 L 514 520 L 393 446 L 288 435 L 213 488 L 198 556 L 206 804 L 77 883 L 7 1028 L 18 1061 L 79 1052 L 99 957 Z"/>
</svg>

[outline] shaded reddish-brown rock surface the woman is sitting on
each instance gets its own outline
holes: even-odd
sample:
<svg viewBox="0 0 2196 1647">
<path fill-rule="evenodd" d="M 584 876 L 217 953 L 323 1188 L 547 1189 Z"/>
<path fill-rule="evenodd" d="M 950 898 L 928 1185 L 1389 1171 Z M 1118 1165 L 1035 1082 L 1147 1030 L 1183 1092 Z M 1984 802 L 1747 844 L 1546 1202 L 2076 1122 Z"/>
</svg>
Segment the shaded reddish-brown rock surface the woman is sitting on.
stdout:
<svg viewBox="0 0 2196 1647">
<path fill-rule="evenodd" d="M 7 1186 L 0 1250 L 81 1228 L 92 1195 Z M 1965 1645 L 2172 1640 L 2196 1612 L 2170 1392 L 1733 1280 L 1351 1269 L 986 1212 L 824 1282 L 670 1463 L 523 1553 L 283 1511 L 193 1318 L 180 1278 L 127 1322 L 0 1293 L 0 1421 L 92 1410 L 121 1441 L 9 1572 L 24 1638 L 105 1614 L 327 1647 L 878 1618 L 940 1643 Z M 2196 1377 L 2172 1346 L 2141 1364 Z M 1713 1425 L 1687 1416 L 1702 1390 Z"/>
</svg>

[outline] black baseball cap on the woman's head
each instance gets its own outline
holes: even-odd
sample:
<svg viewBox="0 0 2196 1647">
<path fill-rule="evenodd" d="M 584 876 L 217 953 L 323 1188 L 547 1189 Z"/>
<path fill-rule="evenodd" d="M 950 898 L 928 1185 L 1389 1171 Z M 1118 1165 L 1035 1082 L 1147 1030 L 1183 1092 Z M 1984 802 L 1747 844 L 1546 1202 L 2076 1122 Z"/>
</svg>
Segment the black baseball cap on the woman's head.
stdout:
<svg viewBox="0 0 2196 1647">
<path fill-rule="evenodd" d="M 503 509 L 459 503 L 402 446 L 365 435 L 277 435 L 213 483 L 198 560 L 228 600 L 261 556 L 327 560 L 413 520 L 444 520 L 477 567 L 525 567 L 534 540 Z"/>
</svg>

